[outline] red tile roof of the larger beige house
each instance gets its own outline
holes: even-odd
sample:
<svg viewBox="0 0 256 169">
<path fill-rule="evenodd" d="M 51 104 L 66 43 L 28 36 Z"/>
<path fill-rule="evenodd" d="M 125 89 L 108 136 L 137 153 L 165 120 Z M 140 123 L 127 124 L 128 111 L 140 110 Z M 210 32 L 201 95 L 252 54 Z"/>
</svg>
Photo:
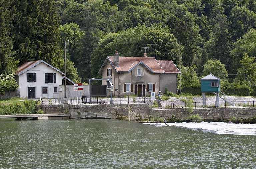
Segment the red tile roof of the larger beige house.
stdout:
<svg viewBox="0 0 256 169">
<path fill-rule="evenodd" d="M 114 65 L 114 56 L 108 56 L 109 60 Z M 139 62 L 143 62 L 154 73 L 180 73 L 179 69 L 172 61 L 161 60 L 157 61 L 154 57 L 119 57 L 119 67 L 116 67 L 117 72 L 128 72 L 134 68 Z"/>
</svg>

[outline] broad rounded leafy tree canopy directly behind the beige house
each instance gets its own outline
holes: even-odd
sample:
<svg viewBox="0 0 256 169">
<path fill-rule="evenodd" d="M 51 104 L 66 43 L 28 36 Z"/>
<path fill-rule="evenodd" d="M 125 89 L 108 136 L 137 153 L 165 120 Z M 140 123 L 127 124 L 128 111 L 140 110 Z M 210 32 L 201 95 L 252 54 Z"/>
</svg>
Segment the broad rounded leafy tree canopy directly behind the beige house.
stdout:
<svg viewBox="0 0 256 169">
<path fill-rule="evenodd" d="M 92 76 L 98 77 L 98 71 L 107 56 L 113 56 L 118 50 L 120 56 L 143 56 L 143 48 L 149 47 L 147 56 L 159 60 L 179 61 L 179 45 L 168 27 L 154 24 L 151 27 L 139 25 L 133 29 L 103 36 L 91 56 Z M 181 54 L 183 48 L 181 48 Z"/>
</svg>

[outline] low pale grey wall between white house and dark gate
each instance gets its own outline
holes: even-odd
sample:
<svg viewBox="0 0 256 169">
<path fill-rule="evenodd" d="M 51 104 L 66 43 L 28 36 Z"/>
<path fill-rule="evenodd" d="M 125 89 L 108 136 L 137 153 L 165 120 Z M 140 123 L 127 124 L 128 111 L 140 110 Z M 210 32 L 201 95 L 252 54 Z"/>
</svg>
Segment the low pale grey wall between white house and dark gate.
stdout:
<svg viewBox="0 0 256 169">
<path fill-rule="evenodd" d="M 59 98 L 65 97 L 65 85 L 59 86 Z M 83 90 L 76 91 L 74 90 L 74 85 L 67 85 L 67 98 L 76 98 L 89 95 L 89 85 L 83 85 Z"/>
</svg>

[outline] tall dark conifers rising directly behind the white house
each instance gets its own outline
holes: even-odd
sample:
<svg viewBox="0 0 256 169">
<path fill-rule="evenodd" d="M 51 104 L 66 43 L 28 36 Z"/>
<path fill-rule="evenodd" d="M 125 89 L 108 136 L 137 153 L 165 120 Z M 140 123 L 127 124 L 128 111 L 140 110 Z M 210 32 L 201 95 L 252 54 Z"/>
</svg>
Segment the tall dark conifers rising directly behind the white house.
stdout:
<svg viewBox="0 0 256 169">
<path fill-rule="evenodd" d="M 11 4 L 13 48 L 20 64 L 44 60 L 58 68 L 62 58 L 59 46 L 59 17 L 53 0 L 15 0 Z"/>
</svg>

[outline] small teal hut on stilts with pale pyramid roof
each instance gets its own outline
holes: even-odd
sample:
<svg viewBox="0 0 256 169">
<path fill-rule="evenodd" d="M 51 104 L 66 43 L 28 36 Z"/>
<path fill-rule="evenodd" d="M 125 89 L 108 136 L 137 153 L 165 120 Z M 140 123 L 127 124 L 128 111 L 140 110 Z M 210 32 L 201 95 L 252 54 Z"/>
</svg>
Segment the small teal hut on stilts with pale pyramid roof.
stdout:
<svg viewBox="0 0 256 169">
<path fill-rule="evenodd" d="M 206 93 L 213 92 L 216 96 L 216 106 L 219 106 L 220 79 L 209 74 L 201 80 L 201 92 L 203 96 L 203 106 L 206 105 Z"/>
</svg>

